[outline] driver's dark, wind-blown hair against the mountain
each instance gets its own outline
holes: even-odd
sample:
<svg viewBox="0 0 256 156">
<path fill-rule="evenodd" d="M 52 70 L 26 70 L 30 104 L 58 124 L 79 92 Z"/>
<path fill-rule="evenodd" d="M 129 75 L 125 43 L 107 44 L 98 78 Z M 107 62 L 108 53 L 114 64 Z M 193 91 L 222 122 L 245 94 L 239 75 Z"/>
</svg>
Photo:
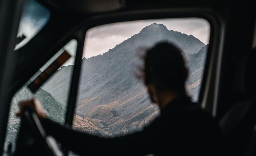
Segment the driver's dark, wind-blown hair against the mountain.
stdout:
<svg viewBox="0 0 256 156">
<path fill-rule="evenodd" d="M 181 50 L 171 43 L 161 42 L 146 50 L 141 70 L 145 84 L 154 83 L 158 90 L 185 93 L 188 70 Z"/>
</svg>

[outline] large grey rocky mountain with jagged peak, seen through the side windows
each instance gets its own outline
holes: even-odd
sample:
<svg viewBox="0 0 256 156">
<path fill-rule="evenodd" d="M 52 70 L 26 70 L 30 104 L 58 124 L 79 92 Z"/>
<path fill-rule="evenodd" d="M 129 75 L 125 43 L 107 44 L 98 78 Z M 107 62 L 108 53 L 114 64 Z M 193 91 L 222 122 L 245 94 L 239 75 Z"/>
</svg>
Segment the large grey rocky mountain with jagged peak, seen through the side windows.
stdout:
<svg viewBox="0 0 256 156">
<path fill-rule="evenodd" d="M 171 42 L 183 51 L 190 70 L 187 90 L 197 100 L 208 46 L 192 35 L 169 31 L 163 24 L 153 23 L 104 54 L 82 59 L 75 129 L 86 131 L 85 122 L 92 120 L 91 123 L 97 122 L 92 127 L 99 128 L 92 130 L 94 134 L 123 135 L 140 130 L 159 115 L 133 71 L 141 61 L 138 49 L 160 41 Z M 62 67 L 42 88 L 66 102 L 72 68 L 73 65 Z"/>
</svg>

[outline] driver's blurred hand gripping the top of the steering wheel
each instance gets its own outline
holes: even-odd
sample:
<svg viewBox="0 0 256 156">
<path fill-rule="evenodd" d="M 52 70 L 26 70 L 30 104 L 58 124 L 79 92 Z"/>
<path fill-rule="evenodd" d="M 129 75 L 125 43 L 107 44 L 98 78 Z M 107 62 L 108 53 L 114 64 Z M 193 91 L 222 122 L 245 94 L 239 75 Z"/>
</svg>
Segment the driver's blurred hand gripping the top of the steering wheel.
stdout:
<svg viewBox="0 0 256 156">
<path fill-rule="evenodd" d="M 16 112 L 16 116 L 21 117 L 25 106 L 32 108 L 40 119 L 44 119 L 47 117 L 40 102 L 37 99 L 20 102 L 20 111 Z"/>
</svg>

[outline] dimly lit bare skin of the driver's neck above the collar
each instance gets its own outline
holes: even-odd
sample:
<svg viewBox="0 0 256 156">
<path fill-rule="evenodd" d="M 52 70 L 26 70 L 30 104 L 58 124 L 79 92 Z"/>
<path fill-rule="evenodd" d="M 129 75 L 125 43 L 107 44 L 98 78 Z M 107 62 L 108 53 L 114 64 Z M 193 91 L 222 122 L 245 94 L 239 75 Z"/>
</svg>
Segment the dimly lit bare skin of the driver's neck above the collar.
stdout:
<svg viewBox="0 0 256 156">
<path fill-rule="evenodd" d="M 186 93 L 174 93 L 172 91 L 162 91 L 158 94 L 158 105 L 160 110 L 162 110 L 170 101 L 181 97 L 187 96 Z"/>
</svg>

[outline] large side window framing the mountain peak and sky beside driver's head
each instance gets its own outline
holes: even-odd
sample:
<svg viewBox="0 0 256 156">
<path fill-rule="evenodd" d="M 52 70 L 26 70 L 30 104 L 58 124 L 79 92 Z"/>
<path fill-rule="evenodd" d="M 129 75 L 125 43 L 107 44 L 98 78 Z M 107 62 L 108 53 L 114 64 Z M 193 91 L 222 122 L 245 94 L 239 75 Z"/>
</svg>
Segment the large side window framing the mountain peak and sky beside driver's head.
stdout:
<svg viewBox="0 0 256 156">
<path fill-rule="evenodd" d="M 140 51 L 158 42 L 183 52 L 190 76 L 186 90 L 197 102 L 205 66 L 209 23 L 200 18 L 112 23 L 91 28 L 85 37 L 73 128 L 113 137 L 142 130 L 159 109 L 134 70 Z"/>
</svg>

